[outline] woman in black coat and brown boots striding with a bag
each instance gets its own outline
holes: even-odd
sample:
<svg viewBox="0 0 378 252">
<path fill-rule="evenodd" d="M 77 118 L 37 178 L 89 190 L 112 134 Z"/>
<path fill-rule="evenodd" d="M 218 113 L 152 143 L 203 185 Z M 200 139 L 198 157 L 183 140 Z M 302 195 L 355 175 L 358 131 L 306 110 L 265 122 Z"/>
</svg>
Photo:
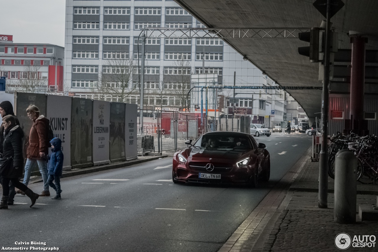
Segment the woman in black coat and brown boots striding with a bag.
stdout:
<svg viewBox="0 0 378 252">
<path fill-rule="evenodd" d="M 11 182 L 14 187 L 25 192 L 25 194 L 31 199 L 30 207 L 32 207 L 36 203 L 39 194 L 34 193 L 19 181 L 19 177 L 22 177 L 23 167 L 23 131 L 19 125 L 16 125 L 16 121 L 12 115 L 6 115 L 3 117 L 3 126 L 5 129 L 5 138 L 3 142 L 3 158 L 0 159 L 3 196 L 0 202 L 0 209 L 8 209 L 9 182 Z"/>
</svg>

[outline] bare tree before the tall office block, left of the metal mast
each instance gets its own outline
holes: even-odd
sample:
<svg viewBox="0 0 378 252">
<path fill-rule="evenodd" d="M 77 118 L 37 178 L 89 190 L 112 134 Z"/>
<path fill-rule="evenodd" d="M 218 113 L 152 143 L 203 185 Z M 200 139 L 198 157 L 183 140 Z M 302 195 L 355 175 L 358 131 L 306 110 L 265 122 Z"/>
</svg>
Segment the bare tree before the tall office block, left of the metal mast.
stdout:
<svg viewBox="0 0 378 252">
<path fill-rule="evenodd" d="M 119 54 L 115 54 L 115 57 Z M 125 98 L 138 90 L 132 83 L 133 74 L 137 73 L 137 65 L 133 59 L 119 56 L 108 59 L 102 66 L 95 92 L 100 100 L 111 96 L 113 100 L 124 102 Z"/>
</svg>

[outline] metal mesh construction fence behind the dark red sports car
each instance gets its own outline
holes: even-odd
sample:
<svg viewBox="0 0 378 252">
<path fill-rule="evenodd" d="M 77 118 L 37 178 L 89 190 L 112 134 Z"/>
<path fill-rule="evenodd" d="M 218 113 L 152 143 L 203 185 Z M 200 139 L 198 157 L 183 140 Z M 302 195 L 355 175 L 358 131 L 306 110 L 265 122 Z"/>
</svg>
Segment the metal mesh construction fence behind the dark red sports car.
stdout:
<svg viewBox="0 0 378 252">
<path fill-rule="evenodd" d="M 143 113 L 143 127 L 140 125 Z M 176 151 L 186 148 L 185 140 L 197 140 L 212 131 L 242 132 L 243 118 L 201 117 L 198 113 L 138 110 L 138 153 Z M 244 128 L 245 129 L 245 128 Z M 249 125 L 248 125 L 249 129 Z"/>
</svg>

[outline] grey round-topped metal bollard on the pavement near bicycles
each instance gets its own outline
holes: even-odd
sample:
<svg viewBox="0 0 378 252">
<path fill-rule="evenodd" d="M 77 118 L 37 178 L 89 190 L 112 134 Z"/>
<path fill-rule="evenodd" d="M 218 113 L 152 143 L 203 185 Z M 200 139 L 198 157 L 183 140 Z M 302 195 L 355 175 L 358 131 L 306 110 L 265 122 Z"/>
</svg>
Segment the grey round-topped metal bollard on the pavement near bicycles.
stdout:
<svg viewBox="0 0 378 252">
<path fill-rule="evenodd" d="M 356 222 L 357 158 L 348 150 L 335 156 L 335 222 Z"/>
</svg>

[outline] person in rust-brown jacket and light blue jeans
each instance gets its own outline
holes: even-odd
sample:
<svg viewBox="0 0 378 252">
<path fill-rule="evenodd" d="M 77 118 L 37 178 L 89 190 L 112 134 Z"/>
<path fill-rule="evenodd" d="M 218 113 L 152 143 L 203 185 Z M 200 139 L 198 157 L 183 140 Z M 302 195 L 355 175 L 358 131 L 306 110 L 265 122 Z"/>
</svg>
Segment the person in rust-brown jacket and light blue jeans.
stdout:
<svg viewBox="0 0 378 252">
<path fill-rule="evenodd" d="M 39 115 L 39 109 L 35 105 L 30 105 L 26 112 L 28 117 L 34 122 L 30 129 L 29 134 L 29 146 L 26 151 L 27 158 L 25 164 L 25 175 L 23 184 L 28 185 L 30 179 L 29 168 L 38 163 L 39 172 L 43 179 L 43 191 L 39 196 L 50 196 L 49 186 L 47 184 L 47 167 L 45 157 L 48 154 L 49 141 L 47 139 L 47 128 L 46 126 L 50 121 L 43 115 Z M 22 191 L 17 190 L 17 193 L 22 193 Z"/>
</svg>

